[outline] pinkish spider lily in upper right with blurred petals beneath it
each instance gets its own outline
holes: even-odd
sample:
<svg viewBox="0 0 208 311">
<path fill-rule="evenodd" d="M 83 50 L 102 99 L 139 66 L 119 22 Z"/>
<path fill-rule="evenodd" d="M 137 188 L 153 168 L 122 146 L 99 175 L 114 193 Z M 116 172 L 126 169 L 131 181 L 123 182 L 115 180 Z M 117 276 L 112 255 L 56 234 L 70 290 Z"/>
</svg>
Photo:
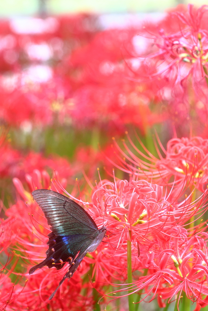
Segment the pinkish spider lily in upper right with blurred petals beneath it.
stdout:
<svg viewBox="0 0 208 311">
<path fill-rule="evenodd" d="M 145 25 L 146 34 L 141 32 L 152 38 L 155 50 L 147 50 L 139 58 L 146 72 L 138 72 L 138 81 L 155 81 L 158 96 L 168 103 L 171 116 L 180 125 L 190 118 L 199 127 L 200 122 L 207 124 L 207 14 L 207 6 L 178 6 L 157 26 Z"/>
</svg>

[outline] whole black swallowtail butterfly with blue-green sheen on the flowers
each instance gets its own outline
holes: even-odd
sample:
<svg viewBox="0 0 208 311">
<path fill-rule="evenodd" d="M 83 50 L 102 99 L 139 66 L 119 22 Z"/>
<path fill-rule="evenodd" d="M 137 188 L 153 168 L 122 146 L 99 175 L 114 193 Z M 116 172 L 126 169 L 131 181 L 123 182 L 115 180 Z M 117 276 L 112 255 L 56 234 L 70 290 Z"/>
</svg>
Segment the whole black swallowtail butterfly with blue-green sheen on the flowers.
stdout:
<svg viewBox="0 0 208 311">
<path fill-rule="evenodd" d="M 51 294 L 51 300 L 64 280 L 73 276 L 86 253 L 95 251 L 106 233 L 106 227 L 98 229 L 79 204 L 60 193 L 38 189 L 32 192 L 32 196 L 44 212 L 52 232 L 48 234 L 46 259 L 32 267 L 29 274 L 44 266 L 59 270 L 66 262 L 70 264 L 59 286 Z"/>
</svg>

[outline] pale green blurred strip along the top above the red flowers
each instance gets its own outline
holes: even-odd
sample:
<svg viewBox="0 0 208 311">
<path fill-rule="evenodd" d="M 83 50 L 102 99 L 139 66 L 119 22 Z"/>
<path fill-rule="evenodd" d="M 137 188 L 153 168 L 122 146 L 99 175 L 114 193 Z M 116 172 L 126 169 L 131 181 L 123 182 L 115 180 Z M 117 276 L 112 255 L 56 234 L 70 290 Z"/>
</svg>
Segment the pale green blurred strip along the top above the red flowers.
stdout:
<svg viewBox="0 0 208 311">
<path fill-rule="evenodd" d="M 179 3 L 188 4 L 188 0 L 7 0 L 0 1 L 0 16 L 35 15 L 46 10 L 49 14 L 75 12 L 93 13 L 132 13 L 164 11 Z M 208 0 L 192 0 L 191 3 L 201 6 Z"/>
</svg>

